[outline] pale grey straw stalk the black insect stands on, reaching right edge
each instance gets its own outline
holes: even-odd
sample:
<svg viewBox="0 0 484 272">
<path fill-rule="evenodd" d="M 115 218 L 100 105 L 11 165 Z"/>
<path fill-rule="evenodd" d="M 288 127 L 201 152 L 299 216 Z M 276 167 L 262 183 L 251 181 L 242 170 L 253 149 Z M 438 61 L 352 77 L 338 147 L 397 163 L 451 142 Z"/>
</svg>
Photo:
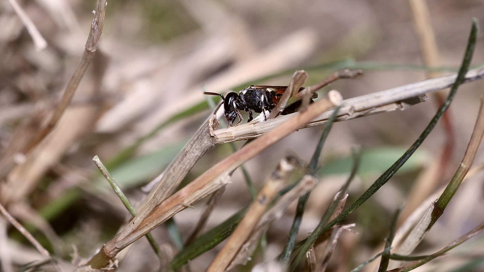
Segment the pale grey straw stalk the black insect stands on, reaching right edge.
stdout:
<svg viewBox="0 0 484 272">
<path fill-rule="evenodd" d="M 381 112 L 403 110 L 411 106 L 406 101 L 410 98 L 417 98 L 428 92 L 439 91 L 452 86 L 455 82 L 456 74 L 430 78 L 408 85 L 396 87 L 386 91 L 378 91 L 358 97 L 343 100 L 335 121 L 346 121 L 362 116 L 377 114 Z M 484 77 L 484 68 L 469 70 L 463 83 Z M 418 103 L 414 102 L 414 103 Z M 325 124 L 333 114 L 333 110 L 326 111 L 313 119 L 303 127 L 311 127 Z M 292 118 L 293 114 L 279 116 L 278 118 L 267 120 L 260 123 L 250 122 L 234 127 L 215 130 L 216 143 L 226 143 L 250 138 L 256 138 L 267 131 L 270 131 L 280 123 Z"/>
</svg>

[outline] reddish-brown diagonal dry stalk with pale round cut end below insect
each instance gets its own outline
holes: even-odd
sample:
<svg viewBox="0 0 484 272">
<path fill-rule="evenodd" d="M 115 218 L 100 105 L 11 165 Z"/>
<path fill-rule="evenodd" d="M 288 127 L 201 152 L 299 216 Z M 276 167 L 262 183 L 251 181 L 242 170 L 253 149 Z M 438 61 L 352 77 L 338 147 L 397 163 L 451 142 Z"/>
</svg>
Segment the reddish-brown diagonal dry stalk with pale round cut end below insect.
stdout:
<svg viewBox="0 0 484 272">
<path fill-rule="evenodd" d="M 333 96 L 333 100 L 330 99 L 331 95 Z M 339 104 L 341 95 L 337 91 L 333 91 L 331 95 L 319 99 L 316 103 L 309 106 L 306 111 L 292 115 L 293 117 L 291 119 L 273 129 L 271 132 L 248 143 L 239 151 L 212 166 L 180 191 L 156 205 L 148 216 L 140 217 L 139 227 L 134 230 L 131 230 L 129 227 L 124 228 L 115 238 L 104 245 L 103 249 L 96 255 L 97 257 L 94 256 L 93 258 L 106 260 L 108 257 L 116 256 L 121 249 L 141 238 L 177 212 L 184 210 L 203 197 L 213 193 L 224 184 L 227 184 L 229 182 L 227 181 L 227 176 L 231 171 L 241 166 L 247 160 L 255 157 L 272 144 L 291 134 L 303 124 L 314 119 L 321 112 L 330 109 L 335 104 Z M 134 225 L 135 220 L 136 218 L 128 226 Z M 101 264 L 103 262 L 99 263 Z M 94 261 L 90 264 L 94 265 Z M 104 265 L 106 265 L 106 262 L 104 262 Z"/>
</svg>

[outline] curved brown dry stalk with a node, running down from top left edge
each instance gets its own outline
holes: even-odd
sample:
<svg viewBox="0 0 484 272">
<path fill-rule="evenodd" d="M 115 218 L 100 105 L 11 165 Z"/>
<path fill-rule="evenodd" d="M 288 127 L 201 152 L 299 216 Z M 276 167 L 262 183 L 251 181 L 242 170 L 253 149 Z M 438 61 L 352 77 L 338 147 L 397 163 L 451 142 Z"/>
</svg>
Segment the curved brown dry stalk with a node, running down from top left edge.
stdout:
<svg viewBox="0 0 484 272">
<path fill-rule="evenodd" d="M 69 80 L 69 83 L 65 88 L 59 106 L 57 106 L 56 110 L 54 111 L 54 114 L 52 115 L 49 123 L 23 149 L 23 154 L 29 152 L 36 144 L 42 141 L 42 139 L 44 139 L 45 136 L 47 136 L 47 134 L 49 134 L 52 128 L 57 124 L 59 119 L 61 119 L 62 114 L 64 113 L 67 106 L 69 106 L 69 103 L 71 102 L 72 97 L 76 92 L 77 86 L 79 86 L 79 82 L 81 81 L 84 73 L 88 69 L 92 57 L 94 57 L 94 53 L 96 52 L 97 43 L 99 42 L 99 38 L 101 37 L 101 32 L 103 31 L 104 16 L 106 14 L 106 0 L 97 0 L 95 13 L 96 17 L 92 20 L 91 31 L 89 32 L 89 37 L 86 42 L 84 53 L 82 54 L 81 60 L 79 60 L 79 64 L 77 65 L 74 75 L 72 75 L 71 80 Z"/>
</svg>

